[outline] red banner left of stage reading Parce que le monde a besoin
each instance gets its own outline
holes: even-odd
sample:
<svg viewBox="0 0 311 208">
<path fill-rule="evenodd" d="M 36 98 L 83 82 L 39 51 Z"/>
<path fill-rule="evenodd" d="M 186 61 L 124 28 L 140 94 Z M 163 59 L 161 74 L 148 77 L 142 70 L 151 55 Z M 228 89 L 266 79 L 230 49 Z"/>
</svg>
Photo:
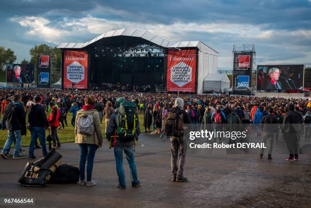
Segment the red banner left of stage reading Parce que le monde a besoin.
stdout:
<svg viewBox="0 0 311 208">
<path fill-rule="evenodd" d="M 64 51 L 64 88 L 87 88 L 87 53 Z"/>
</svg>

